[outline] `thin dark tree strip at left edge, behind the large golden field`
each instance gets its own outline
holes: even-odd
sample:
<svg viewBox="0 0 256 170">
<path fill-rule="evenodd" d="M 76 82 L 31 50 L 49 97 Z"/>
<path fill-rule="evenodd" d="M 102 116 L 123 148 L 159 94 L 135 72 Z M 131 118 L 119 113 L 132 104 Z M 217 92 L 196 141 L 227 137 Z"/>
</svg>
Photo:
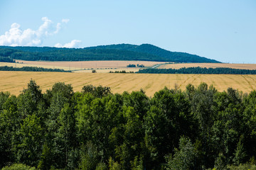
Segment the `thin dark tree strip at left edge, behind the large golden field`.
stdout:
<svg viewBox="0 0 256 170">
<path fill-rule="evenodd" d="M 64 69 L 46 69 L 43 67 L 9 67 L 1 66 L 0 71 L 22 71 L 22 72 L 71 72 Z"/>
</svg>

